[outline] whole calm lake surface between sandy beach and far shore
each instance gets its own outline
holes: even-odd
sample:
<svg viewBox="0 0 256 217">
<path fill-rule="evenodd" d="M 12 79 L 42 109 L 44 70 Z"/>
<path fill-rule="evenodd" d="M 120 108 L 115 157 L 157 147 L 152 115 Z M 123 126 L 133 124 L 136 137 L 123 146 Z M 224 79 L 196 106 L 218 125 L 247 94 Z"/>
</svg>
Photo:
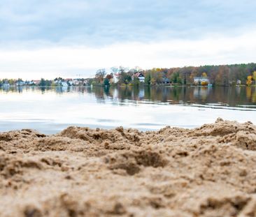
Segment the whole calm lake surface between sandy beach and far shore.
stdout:
<svg viewBox="0 0 256 217">
<path fill-rule="evenodd" d="M 255 87 L 15 87 L 0 89 L 0 105 L 0 131 L 194 128 L 218 117 L 256 124 Z"/>
</svg>

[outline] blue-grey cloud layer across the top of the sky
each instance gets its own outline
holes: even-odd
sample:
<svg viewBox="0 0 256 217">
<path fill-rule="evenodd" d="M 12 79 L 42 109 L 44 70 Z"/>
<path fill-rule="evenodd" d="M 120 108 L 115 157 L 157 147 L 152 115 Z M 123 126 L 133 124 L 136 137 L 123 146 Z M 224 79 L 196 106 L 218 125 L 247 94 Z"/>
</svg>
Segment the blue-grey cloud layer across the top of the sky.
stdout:
<svg viewBox="0 0 256 217">
<path fill-rule="evenodd" d="M 255 24 L 255 6 L 253 0 L 2 0 L 0 43 L 97 46 L 232 35 Z"/>
</svg>

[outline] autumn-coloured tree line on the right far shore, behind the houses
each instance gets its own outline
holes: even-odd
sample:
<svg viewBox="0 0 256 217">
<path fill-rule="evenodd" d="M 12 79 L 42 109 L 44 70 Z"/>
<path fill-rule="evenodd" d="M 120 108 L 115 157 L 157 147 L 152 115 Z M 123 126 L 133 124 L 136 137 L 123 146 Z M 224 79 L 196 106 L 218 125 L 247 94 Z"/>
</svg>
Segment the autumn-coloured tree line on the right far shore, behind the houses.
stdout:
<svg viewBox="0 0 256 217">
<path fill-rule="evenodd" d="M 143 70 L 141 68 L 113 67 L 110 73 L 105 69 L 97 70 L 90 84 L 111 84 L 113 77 L 118 75 L 118 84 L 138 84 L 139 81 L 133 75 L 141 72 L 145 76 L 145 84 L 194 84 L 194 77 L 208 77 L 213 85 L 229 86 L 232 84 L 255 84 L 256 63 L 242 63 L 220 66 L 185 66 L 182 68 L 152 68 Z"/>
</svg>

